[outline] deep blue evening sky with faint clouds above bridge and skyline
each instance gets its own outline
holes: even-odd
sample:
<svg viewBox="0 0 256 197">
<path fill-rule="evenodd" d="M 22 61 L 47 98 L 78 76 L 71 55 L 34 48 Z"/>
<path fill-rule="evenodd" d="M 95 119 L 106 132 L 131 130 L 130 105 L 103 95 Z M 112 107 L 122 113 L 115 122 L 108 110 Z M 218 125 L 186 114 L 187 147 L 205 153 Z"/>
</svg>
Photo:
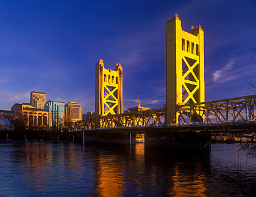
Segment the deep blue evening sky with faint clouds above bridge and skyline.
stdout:
<svg viewBox="0 0 256 197">
<path fill-rule="evenodd" d="M 202 25 L 205 100 L 251 93 L 255 68 L 251 21 L 256 1 L 20 1 L 0 0 L 0 109 L 46 99 L 77 102 L 94 111 L 96 61 L 123 66 L 124 109 L 165 104 L 165 24 Z M 253 75 L 252 75 L 253 76 Z"/>
</svg>

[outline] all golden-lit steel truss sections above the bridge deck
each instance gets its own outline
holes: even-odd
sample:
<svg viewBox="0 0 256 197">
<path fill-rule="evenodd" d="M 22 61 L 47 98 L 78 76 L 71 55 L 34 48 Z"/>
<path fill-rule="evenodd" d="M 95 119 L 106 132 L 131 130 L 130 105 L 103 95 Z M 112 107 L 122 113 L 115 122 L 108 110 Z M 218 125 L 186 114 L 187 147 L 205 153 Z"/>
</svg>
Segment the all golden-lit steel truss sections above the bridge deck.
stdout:
<svg viewBox="0 0 256 197">
<path fill-rule="evenodd" d="M 210 124 L 216 122 L 237 122 L 239 120 L 255 121 L 255 105 L 256 95 L 177 105 L 176 110 L 179 114 L 177 125 L 193 122 Z M 123 114 L 108 114 L 107 116 L 100 116 L 100 128 L 163 126 L 165 124 L 164 120 L 164 108 L 126 112 Z M 174 122 L 174 124 L 176 123 Z M 87 130 L 91 128 L 95 128 L 95 119 L 81 120 L 76 122 L 74 126 L 74 130 Z"/>
</svg>

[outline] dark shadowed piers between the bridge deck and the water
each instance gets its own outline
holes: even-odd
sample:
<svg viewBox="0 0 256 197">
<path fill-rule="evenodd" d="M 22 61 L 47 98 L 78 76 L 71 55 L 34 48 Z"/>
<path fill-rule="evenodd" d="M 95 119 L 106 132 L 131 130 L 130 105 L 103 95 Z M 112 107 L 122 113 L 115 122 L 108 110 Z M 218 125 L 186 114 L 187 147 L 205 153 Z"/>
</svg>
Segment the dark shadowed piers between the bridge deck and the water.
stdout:
<svg viewBox="0 0 256 197">
<path fill-rule="evenodd" d="M 136 134 L 144 133 L 145 147 L 165 147 L 173 150 L 205 150 L 210 148 L 210 133 L 193 131 L 83 131 L 83 143 L 135 144 Z"/>
</svg>

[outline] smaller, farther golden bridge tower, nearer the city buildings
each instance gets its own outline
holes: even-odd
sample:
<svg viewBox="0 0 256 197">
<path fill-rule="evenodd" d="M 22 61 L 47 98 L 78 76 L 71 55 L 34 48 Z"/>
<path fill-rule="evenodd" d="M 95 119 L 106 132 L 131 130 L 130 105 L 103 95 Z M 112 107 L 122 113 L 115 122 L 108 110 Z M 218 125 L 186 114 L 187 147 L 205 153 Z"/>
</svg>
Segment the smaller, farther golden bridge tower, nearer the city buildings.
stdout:
<svg viewBox="0 0 256 197">
<path fill-rule="evenodd" d="M 99 60 L 95 73 L 95 123 L 99 128 L 100 116 L 123 112 L 123 67 L 116 64 L 115 71 L 105 69 Z"/>
</svg>

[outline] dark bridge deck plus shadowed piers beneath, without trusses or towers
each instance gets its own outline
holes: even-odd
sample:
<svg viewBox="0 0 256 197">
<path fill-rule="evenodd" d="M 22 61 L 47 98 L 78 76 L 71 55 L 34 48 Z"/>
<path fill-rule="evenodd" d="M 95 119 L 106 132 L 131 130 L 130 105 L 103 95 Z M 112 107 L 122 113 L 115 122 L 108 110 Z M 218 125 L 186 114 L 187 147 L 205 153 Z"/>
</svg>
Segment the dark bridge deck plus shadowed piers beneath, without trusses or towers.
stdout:
<svg viewBox="0 0 256 197">
<path fill-rule="evenodd" d="M 225 122 L 192 122 L 144 126 L 114 126 L 69 131 L 83 143 L 135 144 L 138 134 L 144 134 L 146 147 L 172 150 L 205 150 L 210 148 L 212 133 L 255 132 L 255 120 Z"/>
</svg>

